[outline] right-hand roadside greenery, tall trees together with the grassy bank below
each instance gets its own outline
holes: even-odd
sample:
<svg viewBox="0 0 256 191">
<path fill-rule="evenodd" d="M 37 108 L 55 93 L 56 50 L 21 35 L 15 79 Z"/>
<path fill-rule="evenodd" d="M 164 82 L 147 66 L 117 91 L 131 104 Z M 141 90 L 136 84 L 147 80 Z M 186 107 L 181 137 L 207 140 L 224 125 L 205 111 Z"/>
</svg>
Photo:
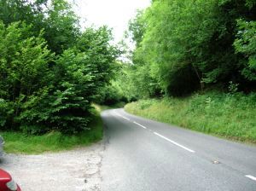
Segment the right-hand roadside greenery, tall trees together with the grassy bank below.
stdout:
<svg viewBox="0 0 256 191">
<path fill-rule="evenodd" d="M 256 1 L 155 0 L 130 21 L 125 110 L 256 142 Z M 125 85 L 123 85 L 125 84 Z"/>
</svg>

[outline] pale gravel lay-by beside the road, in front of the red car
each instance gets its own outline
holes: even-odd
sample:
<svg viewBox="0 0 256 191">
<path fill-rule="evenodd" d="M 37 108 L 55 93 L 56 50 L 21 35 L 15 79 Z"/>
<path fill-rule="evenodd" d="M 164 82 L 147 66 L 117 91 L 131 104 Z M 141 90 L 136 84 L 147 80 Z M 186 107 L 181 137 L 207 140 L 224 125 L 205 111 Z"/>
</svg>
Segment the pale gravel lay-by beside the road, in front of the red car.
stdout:
<svg viewBox="0 0 256 191">
<path fill-rule="evenodd" d="M 103 142 L 60 153 L 5 154 L 0 168 L 9 171 L 22 191 L 101 191 Z"/>
</svg>

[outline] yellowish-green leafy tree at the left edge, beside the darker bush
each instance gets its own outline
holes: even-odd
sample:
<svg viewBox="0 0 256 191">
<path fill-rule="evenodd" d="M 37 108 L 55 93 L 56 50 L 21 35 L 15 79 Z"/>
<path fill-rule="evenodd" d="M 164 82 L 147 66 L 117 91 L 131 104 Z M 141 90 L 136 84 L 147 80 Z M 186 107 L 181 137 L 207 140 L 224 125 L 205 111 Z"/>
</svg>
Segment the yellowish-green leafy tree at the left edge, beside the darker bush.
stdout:
<svg viewBox="0 0 256 191">
<path fill-rule="evenodd" d="M 42 38 L 43 33 L 29 37 L 30 30 L 24 23 L 15 22 L 5 27 L 0 22 L 0 99 L 9 106 L 1 115 L 13 115 L 6 120 L 12 125 L 2 123 L 2 126 L 16 128 L 22 102 L 48 84 L 48 63 L 52 55 Z"/>
</svg>

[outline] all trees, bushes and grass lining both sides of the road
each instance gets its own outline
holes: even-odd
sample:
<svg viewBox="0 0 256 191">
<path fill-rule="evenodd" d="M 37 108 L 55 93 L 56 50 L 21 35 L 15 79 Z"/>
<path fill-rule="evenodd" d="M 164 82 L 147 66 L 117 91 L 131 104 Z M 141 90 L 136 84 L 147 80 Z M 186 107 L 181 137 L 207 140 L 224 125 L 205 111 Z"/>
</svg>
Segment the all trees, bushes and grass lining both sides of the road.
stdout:
<svg viewBox="0 0 256 191">
<path fill-rule="evenodd" d="M 82 29 L 66 0 L 0 0 L 7 151 L 95 142 L 93 103 L 126 101 L 138 101 L 131 113 L 255 142 L 255 0 L 154 0 L 125 36 L 132 52 L 113 44 L 108 26 Z"/>
</svg>

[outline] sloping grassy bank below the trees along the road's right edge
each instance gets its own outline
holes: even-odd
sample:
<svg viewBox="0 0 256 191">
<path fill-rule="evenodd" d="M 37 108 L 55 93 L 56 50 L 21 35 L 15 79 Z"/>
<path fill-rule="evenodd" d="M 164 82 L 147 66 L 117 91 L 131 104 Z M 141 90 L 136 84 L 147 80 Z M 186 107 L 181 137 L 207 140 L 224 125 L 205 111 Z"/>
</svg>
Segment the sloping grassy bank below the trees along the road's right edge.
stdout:
<svg viewBox="0 0 256 191">
<path fill-rule="evenodd" d="M 210 92 L 183 99 L 142 100 L 127 104 L 125 110 L 167 124 L 256 143 L 256 94 Z"/>
</svg>

